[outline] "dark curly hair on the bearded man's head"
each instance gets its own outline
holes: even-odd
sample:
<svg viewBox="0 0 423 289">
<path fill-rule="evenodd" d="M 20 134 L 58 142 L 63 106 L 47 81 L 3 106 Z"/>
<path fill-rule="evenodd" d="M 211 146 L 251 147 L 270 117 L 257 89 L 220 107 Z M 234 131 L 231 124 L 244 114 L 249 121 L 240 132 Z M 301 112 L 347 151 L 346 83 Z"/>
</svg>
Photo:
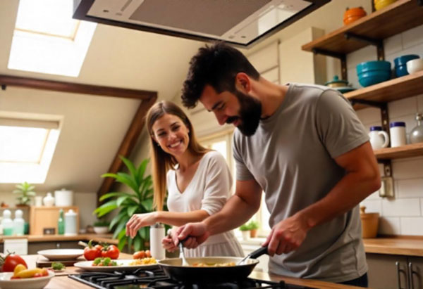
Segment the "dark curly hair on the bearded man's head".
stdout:
<svg viewBox="0 0 423 289">
<path fill-rule="evenodd" d="M 252 79 L 260 74 L 250 61 L 237 49 L 223 42 L 199 49 L 190 60 L 190 70 L 183 83 L 182 103 L 186 108 L 195 108 L 204 86 L 211 85 L 217 93 L 235 91 L 235 76 L 244 72 Z"/>
</svg>

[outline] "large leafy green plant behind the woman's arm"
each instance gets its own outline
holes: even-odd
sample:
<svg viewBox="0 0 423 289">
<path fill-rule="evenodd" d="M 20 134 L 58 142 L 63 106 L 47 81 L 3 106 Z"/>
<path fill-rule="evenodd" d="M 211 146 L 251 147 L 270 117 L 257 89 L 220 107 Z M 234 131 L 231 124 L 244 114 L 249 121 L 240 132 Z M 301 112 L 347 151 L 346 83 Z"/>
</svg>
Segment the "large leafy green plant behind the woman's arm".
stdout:
<svg viewBox="0 0 423 289">
<path fill-rule="evenodd" d="M 102 177 L 111 177 L 121 184 L 125 184 L 130 188 L 130 192 L 112 192 L 106 193 L 99 198 L 100 201 L 109 200 L 97 207 L 94 214 L 97 217 L 103 217 L 105 214 L 118 209 L 119 212 L 111 220 L 109 229 L 113 230 L 113 238 L 118 238 L 118 248 L 122 250 L 128 245 L 130 252 L 132 247 L 135 251 L 144 250 L 149 240 L 149 227 L 138 230 L 135 238 L 125 236 L 125 225 L 133 214 L 142 214 L 152 212 L 153 210 L 153 190 L 152 177 L 144 176 L 145 168 L 149 159 L 141 162 L 139 167 L 135 167 L 130 160 L 120 157 L 128 167 L 128 173 L 118 172 L 117 174 L 103 174 Z"/>
</svg>

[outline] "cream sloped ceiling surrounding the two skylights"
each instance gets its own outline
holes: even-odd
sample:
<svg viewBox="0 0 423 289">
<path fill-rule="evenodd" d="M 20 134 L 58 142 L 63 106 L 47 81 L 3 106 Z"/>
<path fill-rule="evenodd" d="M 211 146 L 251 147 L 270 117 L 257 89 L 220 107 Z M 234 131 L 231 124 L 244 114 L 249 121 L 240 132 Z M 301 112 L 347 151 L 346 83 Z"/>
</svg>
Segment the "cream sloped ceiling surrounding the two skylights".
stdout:
<svg viewBox="0 0 423 289">
<path fill-rule="evenodd" d="M 159 100 L 180 91 L 200 41 L 97 25 L 79 77 L 8 70 L 18 0 L 0 1 L 0 75 L 157 91 Z M 140 101 L 8 87 L 0 110 L 63 116 L 63 129 L 47 181 L 37 191 L 66 186 L 97 191 Z M 0 184 L 0 192 L 13 189 Z"/>
</svg>

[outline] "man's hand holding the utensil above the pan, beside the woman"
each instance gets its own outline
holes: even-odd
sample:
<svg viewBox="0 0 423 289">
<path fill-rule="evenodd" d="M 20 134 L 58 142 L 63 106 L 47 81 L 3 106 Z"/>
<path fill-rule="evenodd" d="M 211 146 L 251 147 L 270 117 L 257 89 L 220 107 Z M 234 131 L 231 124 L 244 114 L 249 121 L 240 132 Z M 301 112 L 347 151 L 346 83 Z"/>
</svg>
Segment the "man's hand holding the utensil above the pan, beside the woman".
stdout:
<svg viewBox="0 0 423 289">
<path fill-rule="evenodd" d="M 198 245 L 204 243 L 209 238 L 210 233 L 207 231 L 206 225 L 202 222 L 188 223 L 180 226 L 176 231 L 175 236 L 172 236 L 173 243 L 178 245 L 180 240 L 183 241 L 185 248 L 197 248 Z"/>
</svg>

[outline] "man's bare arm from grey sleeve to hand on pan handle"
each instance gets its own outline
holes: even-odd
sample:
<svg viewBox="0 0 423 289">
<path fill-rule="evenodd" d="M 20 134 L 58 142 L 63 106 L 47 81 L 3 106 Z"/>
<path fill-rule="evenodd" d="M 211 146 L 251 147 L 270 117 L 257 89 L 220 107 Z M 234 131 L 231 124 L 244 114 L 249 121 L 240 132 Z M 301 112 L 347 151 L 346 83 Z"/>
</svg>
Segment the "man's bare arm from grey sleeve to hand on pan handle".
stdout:
<svg viewBox="0 0 423 289">
<path fill-rule="evenodd" d="M 269 246 L 269 255 L 295 250 L 309 229 L 348 212 L 380 188 L 379 167 L 368 141 L 335 161 L 345 169 L 345 176 L 324 198 L 274 226 L 264 243 Z"/>
</svg>

